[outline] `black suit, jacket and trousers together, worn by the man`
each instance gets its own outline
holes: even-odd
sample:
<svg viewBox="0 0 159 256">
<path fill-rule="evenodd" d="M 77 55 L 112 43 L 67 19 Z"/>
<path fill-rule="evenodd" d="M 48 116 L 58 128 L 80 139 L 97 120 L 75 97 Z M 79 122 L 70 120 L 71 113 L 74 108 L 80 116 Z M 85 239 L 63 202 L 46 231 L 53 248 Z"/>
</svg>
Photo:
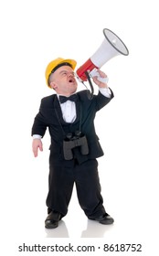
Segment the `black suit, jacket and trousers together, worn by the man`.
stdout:
<svg viewBox="0 0 159 256">
<path fill-rule="evenodd" d="M 51 137 L 48 208 L 65 216 L 75 182 L 80 207 L 89 218 L 93 219 L 105 213 L 102 206 L 103 200 L 96 160 L 103 155 L 103 151 L 95 132 L 94 118 L 96 112 L 111 101 L 113 93 L 111 92 L 111 98 L 107 98 L 99 92 L 98 95 L 93 96 L 91 101 L 88 99 L 87 91 L 80 91 L 77 95 L 77 118 L 74 123 L 66 123 L 63 120 L 56 94 L 42 99 L 32 127 L 32 134 L 40 134 L 43 137 L 48 128 Z M 76 147 L 73 149 L 74 158 L 65 160 L 63 140 L 65 140 L 67 133 L 73 133 L 77 130 L 86 135 L 89 154 L 82 155 L 80 147 Z"/>
</svg>

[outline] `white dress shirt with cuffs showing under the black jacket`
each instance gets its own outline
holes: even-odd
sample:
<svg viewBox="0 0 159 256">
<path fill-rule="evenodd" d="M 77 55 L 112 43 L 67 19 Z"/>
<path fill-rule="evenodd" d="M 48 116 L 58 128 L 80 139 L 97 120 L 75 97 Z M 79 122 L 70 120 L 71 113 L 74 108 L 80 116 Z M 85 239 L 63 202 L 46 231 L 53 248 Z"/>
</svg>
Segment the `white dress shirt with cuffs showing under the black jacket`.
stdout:
<svg viewBox="0 0 159 256">
<path fill-rule="evenodd" d="M 111 98 L 111 90 L 109 88 L 99 88 L 102 95 Z M 59 97 L 59 95 L 57 94 Z M 76 120 L 76 103 L 74 101 L 66 101 L 60 103 L 63 119 L 66 123 L 73 123 Z M 34 139 L 40 139 L 41 135 L 34 134 Z"/>
</svg>

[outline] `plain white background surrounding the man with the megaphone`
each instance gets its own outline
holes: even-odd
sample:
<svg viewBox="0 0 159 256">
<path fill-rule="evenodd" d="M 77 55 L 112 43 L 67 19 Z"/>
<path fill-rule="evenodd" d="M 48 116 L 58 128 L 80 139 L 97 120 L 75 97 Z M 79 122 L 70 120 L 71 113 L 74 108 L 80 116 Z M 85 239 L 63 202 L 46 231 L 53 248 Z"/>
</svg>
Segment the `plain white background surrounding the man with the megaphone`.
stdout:
<svg viewBox="0 0 159 256">
<path fill-rule="evenodd" d="M 105 227 L 88 221 L 74 191 L 68 216 L 58 229 L 46 230 L 49 136 L 37 158 L 32 155 L 30 136 L 41 98 L 53 93 L 45 83 L 45 69 L 58 57 L 76 59 L 80 67 L 100 47 L 104 27 L 121 37 L 130 51 L 128 57 L 111 59 L 102 67 L 115 98 L 96 118 L 105 152 L 99 159 L 102 196 L 115 223 Z M 155 255 L 157 1 L 5 0 L 0 2 L 0 34 L 1 251 L 17 255 L 23 242 L 84 244 L 91 238 L 97 245 L 142 243 L 140 255 Z"/>
</svg>

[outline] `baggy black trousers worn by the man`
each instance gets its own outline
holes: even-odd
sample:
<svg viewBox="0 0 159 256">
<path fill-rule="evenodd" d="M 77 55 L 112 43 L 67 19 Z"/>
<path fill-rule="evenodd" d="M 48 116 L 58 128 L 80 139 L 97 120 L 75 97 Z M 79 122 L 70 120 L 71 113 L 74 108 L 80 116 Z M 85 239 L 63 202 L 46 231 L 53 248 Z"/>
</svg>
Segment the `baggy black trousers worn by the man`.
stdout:
<svg viewBox="0 0 159 256">
<path fill-rule="evenodd" d="M 69 201 L 74 184 L 76 185 L 80 207 L 90 219 L 98 219 L 105 214 L 101 185 L 96 159 L 88 160 L 81 165 L 74 160 L 73 165 L 54 164 L 49 160 L 47 206 L 58 211 L 62 217 L 68 212 Z"/>
</svg>

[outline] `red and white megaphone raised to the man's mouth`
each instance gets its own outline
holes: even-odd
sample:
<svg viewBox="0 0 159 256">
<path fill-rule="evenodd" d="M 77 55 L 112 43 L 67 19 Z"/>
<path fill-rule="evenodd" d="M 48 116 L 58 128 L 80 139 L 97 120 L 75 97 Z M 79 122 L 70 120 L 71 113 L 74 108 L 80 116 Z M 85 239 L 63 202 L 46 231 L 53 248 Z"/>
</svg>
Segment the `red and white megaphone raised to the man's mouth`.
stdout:
<svg viewBox="0 0 159 256">
<path fill-rule="evenodd" d="M 113 57 L 117 55 L 129 54 L 128 48 L 124 45 L 120 37 L 115 35 L 110 29 L 103 29 L 104 40 L 101 47 L 76 71 L 77 78 L 83 82 L 89 80 L 89 77 L 98 76 L 98 80 L 107 82 L 107 78 L 101 78 L 98 69 Z"/>
</svg>

